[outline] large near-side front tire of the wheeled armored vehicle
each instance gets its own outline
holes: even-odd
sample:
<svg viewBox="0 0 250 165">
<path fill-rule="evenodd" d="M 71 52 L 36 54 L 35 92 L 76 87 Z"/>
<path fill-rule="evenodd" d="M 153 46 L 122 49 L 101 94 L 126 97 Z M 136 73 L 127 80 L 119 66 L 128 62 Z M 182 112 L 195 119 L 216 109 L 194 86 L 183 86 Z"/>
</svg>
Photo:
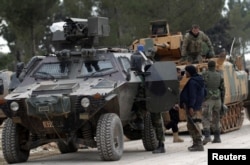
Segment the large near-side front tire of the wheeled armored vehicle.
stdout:
<svg viewBox="0 0 250 165">
<path fill-rule="evenodd" d="M 102 160 L 120 160 L 123 154 L 123 128 L 114 113 L 101 115 L 97 123 L 96 142 Z"/>
</svg>

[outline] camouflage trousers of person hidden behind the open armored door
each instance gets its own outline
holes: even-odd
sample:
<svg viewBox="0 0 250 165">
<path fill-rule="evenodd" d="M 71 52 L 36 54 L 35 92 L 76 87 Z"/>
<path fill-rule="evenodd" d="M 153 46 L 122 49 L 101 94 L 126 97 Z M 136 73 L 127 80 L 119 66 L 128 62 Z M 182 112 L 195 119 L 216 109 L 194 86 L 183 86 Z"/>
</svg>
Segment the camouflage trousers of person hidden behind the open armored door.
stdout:
<svg viewBox="0 0 250 165">
<path fill-rule="evenodd" d="M 164 125 L 161 113 L 150 113 L 151 115 L 151 122 L 155 129 L 156 138 L 158 141 L 164 142 L 165 141 L 165 134 L 164 134 Z"/>
</svg>

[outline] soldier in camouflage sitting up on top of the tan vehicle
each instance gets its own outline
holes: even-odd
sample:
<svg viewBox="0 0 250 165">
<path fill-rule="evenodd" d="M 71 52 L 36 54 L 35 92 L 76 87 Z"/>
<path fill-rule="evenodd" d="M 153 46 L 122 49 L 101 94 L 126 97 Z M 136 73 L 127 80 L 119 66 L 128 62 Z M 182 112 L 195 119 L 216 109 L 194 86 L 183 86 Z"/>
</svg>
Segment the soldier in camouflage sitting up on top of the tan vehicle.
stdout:
<svg viewBox="0 0 250 165">
<path fill-rule="evenodd" d="M 214 56 L 214 49 L 209 37 L 202 31 L 198 25 L 193 25 L 192 29 L 184 36 L 181 55 L 182 59 L 186 59 L 189 63 L 202 62 L 202 43 L 206 43 L 209 51 L 207 58 Z"/>
</svg>

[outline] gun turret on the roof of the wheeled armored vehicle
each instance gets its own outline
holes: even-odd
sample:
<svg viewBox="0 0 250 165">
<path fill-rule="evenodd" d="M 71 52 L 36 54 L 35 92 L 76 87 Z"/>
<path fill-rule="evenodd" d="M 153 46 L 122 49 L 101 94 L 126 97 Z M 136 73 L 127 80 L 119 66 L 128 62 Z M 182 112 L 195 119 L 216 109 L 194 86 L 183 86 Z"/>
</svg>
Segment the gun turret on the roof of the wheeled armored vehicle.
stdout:
<svg viewBox="0 0 250 165">
<path fill-rule="evenodd" d="M 66 18 L 63 28 L 53 31 L 52 44 L 55 50 L 92 48 L 98 44 L 99 37 L 109 36 L 109 31 L 106 17 Z"/>
</svg>

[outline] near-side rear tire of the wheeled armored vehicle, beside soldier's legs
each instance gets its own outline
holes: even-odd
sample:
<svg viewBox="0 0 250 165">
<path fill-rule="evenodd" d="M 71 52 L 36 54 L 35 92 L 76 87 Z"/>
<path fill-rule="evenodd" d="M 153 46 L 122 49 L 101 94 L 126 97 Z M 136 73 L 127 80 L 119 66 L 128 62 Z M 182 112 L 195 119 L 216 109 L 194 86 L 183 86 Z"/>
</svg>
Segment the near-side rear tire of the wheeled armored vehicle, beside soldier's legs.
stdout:
<svg viewBox="0 0 250 165">
<path fill-rule="evenodd" d="M 156 138 L 155 130 L 151 122 L 151 115 L 149 112 L 147 112 L 144 117 L 142 143 L 146 151 L 153 151 L 157 148 L 158 145 L 158 140 Z"/>
</svg>

